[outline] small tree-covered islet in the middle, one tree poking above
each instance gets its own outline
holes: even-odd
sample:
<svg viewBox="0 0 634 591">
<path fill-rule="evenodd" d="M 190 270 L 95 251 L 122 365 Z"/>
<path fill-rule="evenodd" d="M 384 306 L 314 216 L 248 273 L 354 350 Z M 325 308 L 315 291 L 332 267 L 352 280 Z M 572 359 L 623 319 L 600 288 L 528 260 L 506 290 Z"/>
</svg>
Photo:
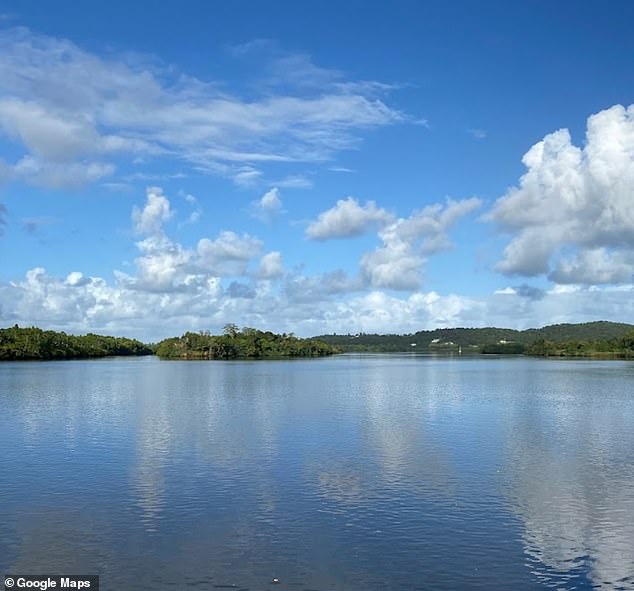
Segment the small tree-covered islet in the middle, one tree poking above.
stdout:
<svg viewBox="0 0 634 591">
<path fill-rule="evenodd" d="M 263 357 L 321 357 L 339 353 L 337 347 L 293 334 L 274 334 L 255 328 L 239 330 L 227 324 L 223 335 L 187 332 L 161 341 L 156 354 L 165 359 L 237 359 Z"/>
</svg>

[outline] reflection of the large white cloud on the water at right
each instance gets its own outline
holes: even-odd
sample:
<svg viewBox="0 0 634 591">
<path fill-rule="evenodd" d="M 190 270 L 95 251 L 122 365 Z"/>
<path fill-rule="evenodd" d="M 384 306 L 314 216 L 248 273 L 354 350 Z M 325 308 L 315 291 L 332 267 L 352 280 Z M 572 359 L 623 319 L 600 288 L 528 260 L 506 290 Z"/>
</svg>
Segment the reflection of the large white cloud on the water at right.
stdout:
<svg viewBox="0 0 634 591">
<path fill-rule="evenodd" d="M 592 371 L 586 368 L 587 371 Z M 613 371 L 618 375 L 618 366 Z M 589 376 L 590 378 L 592 375 Z M 538 578 L 634 589 L 634 408 L 627 384 L 576 378 L 527 393 L 507 422 L 507 485 Z M 614 389 L 610 389 L 613 386 Z"/>
</svg>

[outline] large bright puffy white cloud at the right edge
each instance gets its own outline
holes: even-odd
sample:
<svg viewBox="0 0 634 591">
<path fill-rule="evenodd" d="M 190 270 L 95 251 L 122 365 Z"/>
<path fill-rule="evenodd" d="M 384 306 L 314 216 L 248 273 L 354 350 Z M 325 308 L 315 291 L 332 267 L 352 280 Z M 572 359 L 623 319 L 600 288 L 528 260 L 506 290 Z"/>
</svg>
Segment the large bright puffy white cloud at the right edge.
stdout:
<svg viewBox="0 0 634 591">
<path fill-rule="evenodd" d="M 527 172 L 488 219 L 512 235 L 497 270 L 560 283 L 627 282 L 634 272 L 634 105 L 592 115 L 583 147 L 561 129 L 524 156 Z M 572 254 L 571 254 L 572 253 Z"/>
</svg>

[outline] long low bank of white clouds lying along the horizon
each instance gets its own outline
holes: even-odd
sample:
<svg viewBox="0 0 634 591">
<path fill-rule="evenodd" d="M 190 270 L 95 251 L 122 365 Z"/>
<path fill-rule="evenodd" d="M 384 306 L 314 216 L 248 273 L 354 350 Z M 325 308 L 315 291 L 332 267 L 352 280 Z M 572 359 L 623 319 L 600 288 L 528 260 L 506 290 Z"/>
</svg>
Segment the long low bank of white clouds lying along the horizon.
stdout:
<svg viewBox="0 0 634 591">
<path fill-rule="evenodd" d="M 57 278 L 42 268 L 0 283 L 0 320 L 47 328 L 105 332 L 156 340 L 227 322 L 310 336 L 332 332 L 409 333 L 452 326 L 529 328 L 548 322 L 622 321 L 634 316 L 634 286 L 545 291 L 539 299 L 515 289 L 470 297 L 416 292 L 407 297 L 374 290 L 348 295 L 344 273 L 270 281 L 183 276 L 179 289 L 142 289 L 117 274 L 114 282 L 80 272 Z M 231 284 L 235 285 L 231 287 Z M 251 297 L 254 296 L 254 297 Z"/>
</svg>

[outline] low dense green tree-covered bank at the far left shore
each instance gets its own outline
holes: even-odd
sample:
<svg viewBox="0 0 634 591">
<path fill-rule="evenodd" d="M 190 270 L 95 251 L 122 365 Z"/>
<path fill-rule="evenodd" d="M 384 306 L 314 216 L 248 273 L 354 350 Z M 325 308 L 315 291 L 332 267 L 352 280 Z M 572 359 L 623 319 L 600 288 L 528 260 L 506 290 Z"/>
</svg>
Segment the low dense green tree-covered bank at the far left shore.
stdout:
<svg viewBox="0 0 634 591">
<path fill-rule="evenodd" d="M 40 328 L 0 329 L 0 360 L 76 359 L 112 355 L 151 355 L 140 341 L 89 333 L 83 336 Z"/>
</svg>

